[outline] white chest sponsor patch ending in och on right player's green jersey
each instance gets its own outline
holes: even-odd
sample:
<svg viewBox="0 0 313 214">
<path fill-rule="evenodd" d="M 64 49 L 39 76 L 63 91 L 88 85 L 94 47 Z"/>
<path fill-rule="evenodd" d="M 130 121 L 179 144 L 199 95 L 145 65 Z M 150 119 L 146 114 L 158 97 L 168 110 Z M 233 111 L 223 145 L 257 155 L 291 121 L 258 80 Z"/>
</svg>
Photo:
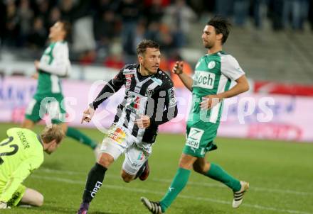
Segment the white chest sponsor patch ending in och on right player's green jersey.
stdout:
<svg viewBox="0 0 313 214">
<path fill-rule="evenodd" d="M 204 89 L 213 89 L 216 74 L 211 72 L 196 71 L 193 77 L 193 86 Z"/>
</svg>

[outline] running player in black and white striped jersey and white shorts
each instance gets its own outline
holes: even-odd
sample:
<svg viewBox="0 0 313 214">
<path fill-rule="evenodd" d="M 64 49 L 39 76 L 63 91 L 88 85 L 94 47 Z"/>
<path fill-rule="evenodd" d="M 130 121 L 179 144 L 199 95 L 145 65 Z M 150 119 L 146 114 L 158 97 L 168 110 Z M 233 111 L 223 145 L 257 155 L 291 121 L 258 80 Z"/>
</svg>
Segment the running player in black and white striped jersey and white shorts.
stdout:
<svg viewBox="0 0 313 214">
<path fill-rule="evenodd" d="M 158 126 L 177 115 L 173 82 L 159 69 L 159 44 L 142 40 L 137 46 L 137 55 L 139 64 L 128 64 L 121 69 L 84 111 L 82 123 L 90 122 L 100 103 L 125 86 L 124 100 L 117 107 L 114 123 L 102 142 L 100 158 L 87 176 L 79 214 L 87 213 L 105 172 L 121 154 L 125 154 L 122 165 L 125 182 L 137 176 L 141 180 L 147 179 L 147 159 L 152 152 Z"/>
</svg>

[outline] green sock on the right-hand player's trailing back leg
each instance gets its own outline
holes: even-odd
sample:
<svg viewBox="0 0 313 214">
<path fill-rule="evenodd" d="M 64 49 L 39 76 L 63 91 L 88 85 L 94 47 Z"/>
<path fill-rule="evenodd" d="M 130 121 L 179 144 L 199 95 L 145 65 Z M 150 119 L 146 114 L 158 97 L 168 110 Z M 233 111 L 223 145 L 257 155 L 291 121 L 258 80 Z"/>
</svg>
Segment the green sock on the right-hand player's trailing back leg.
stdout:
<svg viewBox="0 0 313 214">
<path fill-rule="evenodd" d="M 240 181 L 230 176 L 222 167 L 218 166 L 218 164 L 211 163 L 211 167 L 206 172 L 206 176 L 214 179 L 216 181 L 221 181 L 223 184 L 231 188 L 233 191 L 240 191 L 241 184 Z"/>
</svg>

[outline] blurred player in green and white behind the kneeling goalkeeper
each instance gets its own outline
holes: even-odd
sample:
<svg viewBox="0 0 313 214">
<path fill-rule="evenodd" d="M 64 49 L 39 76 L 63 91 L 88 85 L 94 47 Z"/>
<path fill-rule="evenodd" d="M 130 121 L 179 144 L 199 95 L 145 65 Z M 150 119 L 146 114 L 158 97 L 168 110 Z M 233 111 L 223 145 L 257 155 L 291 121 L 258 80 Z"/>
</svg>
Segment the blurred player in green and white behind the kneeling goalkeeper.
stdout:
<svg viewBox="0 0 313 214">
<path fill-rule="evenodd" d="M 70 73 L 70 60 L 68 56 L 68 43 L 65 38 L 70 30 L 70 23 L 58 21 L 51 28 L 49 33 L 50 45 L 46 48 L 41 60 L 35 61 L 36 79 L 38 85 L 36 94 L 26 109 L 26 118 L 23 121 L 23 128 L 33 128 L 35 123 L 43 118 L 46 112 L 51 116 L 52 123 L 60 123 L 66 136 L 72 137 L 94 150 L 97 156 L 97 142 L 80 133 L 75 128 L 70 128 L 65 121 L 65 106 L 62 106 L 64 99 L 60 77 L 68 77 Z"/>
</svg>

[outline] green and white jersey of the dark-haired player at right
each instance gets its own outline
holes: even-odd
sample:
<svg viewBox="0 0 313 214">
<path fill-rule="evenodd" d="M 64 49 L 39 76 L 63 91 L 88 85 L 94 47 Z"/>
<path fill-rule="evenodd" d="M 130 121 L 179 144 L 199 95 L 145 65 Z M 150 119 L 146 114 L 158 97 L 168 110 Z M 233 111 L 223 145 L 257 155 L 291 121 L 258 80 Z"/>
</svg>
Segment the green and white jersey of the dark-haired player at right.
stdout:
<svg viewBox="0 0 313 214">
<path fill-rule="evenodd" d="M 241 69 L 237 60 L 225 52 L 216 52 L 212 55 L 204 55 L 196 64 L 193 75 L 192 106 L 188 123 L 203 122 L 219 124 L 223 103 L 220 102 L 209 111 L 201 111 L 200 103 L 203 96 L 219 94 L 228 91 L 231 80 L 236 80 L 245 72 Z"/>
</svg>

